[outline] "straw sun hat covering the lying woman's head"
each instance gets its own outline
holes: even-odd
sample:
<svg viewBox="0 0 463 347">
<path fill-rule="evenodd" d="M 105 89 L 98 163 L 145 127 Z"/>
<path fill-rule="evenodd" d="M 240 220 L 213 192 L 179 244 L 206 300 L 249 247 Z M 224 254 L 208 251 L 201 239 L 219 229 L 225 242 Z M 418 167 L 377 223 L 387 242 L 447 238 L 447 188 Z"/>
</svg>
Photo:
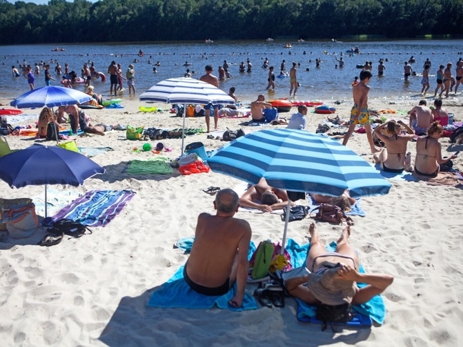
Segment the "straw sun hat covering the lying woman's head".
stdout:
<svg viewBox="0 0 463 347">
<path fill-rule="evenodd" d="M 315 273 L 308 275 L 308 288 L 322 304 L 342 305 L 351 304 L 356 293 L 353 281 L 345 281 L 337 277 L 339 268 L 328 268 L 323 275 Z"/>
</svg>

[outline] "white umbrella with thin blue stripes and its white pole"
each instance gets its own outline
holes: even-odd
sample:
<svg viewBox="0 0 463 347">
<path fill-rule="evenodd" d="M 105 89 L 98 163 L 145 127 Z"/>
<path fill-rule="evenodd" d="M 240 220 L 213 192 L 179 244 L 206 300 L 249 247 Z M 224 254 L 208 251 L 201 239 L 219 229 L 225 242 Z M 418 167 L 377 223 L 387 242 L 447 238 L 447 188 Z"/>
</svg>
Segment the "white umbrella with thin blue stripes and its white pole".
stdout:
<svg viewBox="0 0 463 347">
<path fill-rule="evenodd" d="M 200 103 L 207 105 L 208 103 L 212 103 L 213 105 L 228 105 L 235 103 L 235 99 L 230 97 L 223 90 L 210 83 L 200 81 L 199 79 L 192 79 L 190 77 L 179 77 L 160 81 L 140 95 L 140 101 L 179 103 L 185 106 L 183 116 L 184 125 L 181 133 L 182 155 L 184 154 L 186 104 Z"/>
</svg>

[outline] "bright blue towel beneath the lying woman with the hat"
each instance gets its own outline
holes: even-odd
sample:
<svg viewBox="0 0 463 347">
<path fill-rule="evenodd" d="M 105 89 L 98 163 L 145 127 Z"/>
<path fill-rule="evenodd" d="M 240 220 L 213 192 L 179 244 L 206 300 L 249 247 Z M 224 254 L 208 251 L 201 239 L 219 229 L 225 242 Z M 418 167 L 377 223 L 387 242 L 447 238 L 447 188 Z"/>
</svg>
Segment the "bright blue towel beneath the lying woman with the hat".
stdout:
<svg viewBox="0 0 463 347">
<path fill-rule="evenodd" d="M 289 248 L 294 248 L 294 251 L 290 251 Z M 300 252 L 304 250 L 304 255 L 306 255 L 307 251 L 309 248 L 309 244 L 305 244 L 304 246 L 299 246 L 295 241 L 292 239 L 288 240 L 288 246 L 286 250 L 291 255 L 291 263 L 293 265 L 293 268 L 299 268 L 300 266 L 305 266 L 306 264 L 306 257 L 302 257 Z M 336 242 L 333 241 L 331 244 L 326 246 L 326 250 L 328 252 L 334 252 L 336 249 Z M 293 257 L 293 252 L 297 256 Z M 359 272 L 365 272 L 362 264 L 360 264 Z M 363 283 L 357 283 L 357 286 L 359 288 L 362 288 L 366 286 L 366 284 Z M 315 306 L 308 305 L 304 301 L 301 301 L 297 299 L 297 302 L 301 309 L 299 309 L 299 312 L 297 313 L 297 317 L 315 317 L 316 311 L 315 311 Z M 362 305 L 355 305 L 353 306 L 354 310 L 356 310 L 358 313 L 362 313 L 362 315 L 366 315 L 367 317 L 370 317 L 374 321 L 376 321 L 378 324 L 383 324 L 384 322 L 384 317 L 386 316 L 386 306 L 384 306 L 384 301 L 380 295 L 375 295 L 373 299 L 368 301 L 366 304 Z"/>
</svg>

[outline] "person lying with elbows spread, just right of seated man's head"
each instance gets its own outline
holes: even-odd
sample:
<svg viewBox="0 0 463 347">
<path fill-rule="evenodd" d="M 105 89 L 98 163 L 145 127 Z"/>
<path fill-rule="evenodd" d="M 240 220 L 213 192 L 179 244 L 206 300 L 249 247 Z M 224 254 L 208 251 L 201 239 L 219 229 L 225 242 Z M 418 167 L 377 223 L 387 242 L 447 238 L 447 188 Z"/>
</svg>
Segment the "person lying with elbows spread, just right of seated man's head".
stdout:
<svg viewBox="0 0 463 347">
<path fill-rule="evenodd" d="M 260 201 L 259 202 L 256 202 Z M 272 212 L 279 210 L 288 205 L 288 193 L 286 190 L 268 186 L 264 177 L 259 180 L 258 184 L 250 186 L 239 199 L 239 205 L 248 208 L 257 208 L 263 212 Z M 293 203 L 291 203 L 293 206 Z"/>
</svg>

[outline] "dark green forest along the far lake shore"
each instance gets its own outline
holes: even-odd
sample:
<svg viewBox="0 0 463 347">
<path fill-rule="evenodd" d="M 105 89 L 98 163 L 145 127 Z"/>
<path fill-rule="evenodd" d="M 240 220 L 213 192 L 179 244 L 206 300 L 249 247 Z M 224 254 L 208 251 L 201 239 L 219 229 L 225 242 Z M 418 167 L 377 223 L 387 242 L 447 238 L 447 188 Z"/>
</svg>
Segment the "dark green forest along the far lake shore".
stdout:
<svg viewBox="0 0 463 347">
<path fill-rule="evenodd" d="M 463 0 L 0 0 L 0 44 L 461 38 Z"/>
</svg>

